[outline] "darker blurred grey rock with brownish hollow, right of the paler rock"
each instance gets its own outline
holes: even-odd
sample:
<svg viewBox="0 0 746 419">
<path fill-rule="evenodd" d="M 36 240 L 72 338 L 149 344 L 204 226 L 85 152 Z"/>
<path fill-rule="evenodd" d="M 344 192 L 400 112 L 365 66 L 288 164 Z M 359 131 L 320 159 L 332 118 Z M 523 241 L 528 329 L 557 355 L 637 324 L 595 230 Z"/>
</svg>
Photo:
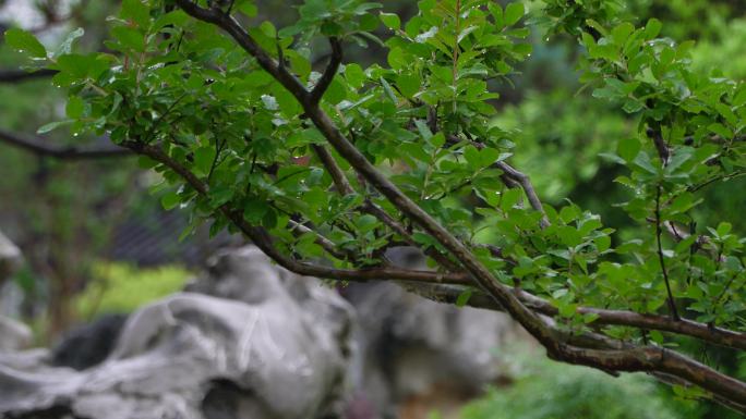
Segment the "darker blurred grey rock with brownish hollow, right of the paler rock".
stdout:
<svg viewBox="0 0 746 419">
<path fill-rule="evenodd" d="M 395 264 L 425 269 L 412 248 L 387 254 Z M 342 291 L 359 319 L 354 419 L 447 415 L 505 379 L 498 349 L 525 338 L 508 316 L 436 303 L 390 282 L 351 284 Z"/>
</svg>

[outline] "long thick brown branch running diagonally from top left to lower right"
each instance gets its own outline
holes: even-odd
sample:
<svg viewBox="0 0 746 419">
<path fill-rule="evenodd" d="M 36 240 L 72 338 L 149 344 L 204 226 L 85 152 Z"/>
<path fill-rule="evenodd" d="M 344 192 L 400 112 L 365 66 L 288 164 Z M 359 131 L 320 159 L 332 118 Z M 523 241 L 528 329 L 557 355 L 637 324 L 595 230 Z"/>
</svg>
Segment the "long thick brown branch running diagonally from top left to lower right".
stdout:
<svg viewBox="0 0 746 419">
<path fill-rule="evenodd" d="M 298 84 L 294 77 L 287 78 L 278 73 L 277 63 L 274 60 L 266 60 L 266 52 L 263 51 L 251 39 L 245 30 L 238 23 L 226 16 L 226 19 L 215 19 L 205 14 L 205 10 L 196 7 L 188 0 L 177 0 L 184 11 L 194 17 L 213 22 L 241 45 L 246 52 L 253 54 L 261 66 L 269 74 L 276 75 L 276 79 L 282 84 L 302 104 L 305 115 L 313 121 L 314 125 L 326 137 L 329 144 L 345 158 L 352 168 L 356 169 L 373 187 L 385 196 L 404 215 L 419 224 L 426 233 L 440 242 L 466 269 L 473 281 L 495 299 L 505 310 L 517 320 L 534 338 L 539 341 L 548 350 L 551 358 L 564 360 L 570 363 L 585 365 L 599 369 L 614 371 L 657 371 L 671 373 L 693 384 L 699 385 L 718 395 L 722 395 L 737 403 L 746 403 L 746 383 L 726 377 L 710 369 L 707 366 L 695 362 L 678 354 L 667 349 L 645 347 L 630 350 L 599 350 L 587 349 L 561 342 L 542 318 L 525 306 L 516 297 L 510 288 L 502 284 L 492 272 L 484 267 L 469 248 L 456 238 L 450 232 L 443 227 L 426 211 L 420 208 L 408 196 L 406 196 L 394 183 L 384 174 L 378 172 L 373 164 L 352 145 L 349 139 L 339 131 L 330 118 L 310 100 L 308 90 Z M 184 7 L 184 4 L 186 7 Z M 239 214 L 240 217 L 240 214 Z M 238 220 L 245 223 L 243 219 Z M 256 227 L 254 227 L 256 229 Z M 246 234 L 256 235 L 257 245 L 265 252 L 272 251 L 273 247 L 267 246 L 267 238 L 262 237 L 261 232 L 250 230 Z M 260 245 L 262 243 L 262 245 Z M 264 246 L 264 247 L 263 247 Z M 267 248 L 265 250 L 264 248 Z M 267 252 L 270 258 L 275 258 Z M 281 254 L 276 255 L 284 257 Z M 280 262 L 279 259 L 278 262 Z M 281 262 L 280 262 L 281 264 Z"/>
</svg>

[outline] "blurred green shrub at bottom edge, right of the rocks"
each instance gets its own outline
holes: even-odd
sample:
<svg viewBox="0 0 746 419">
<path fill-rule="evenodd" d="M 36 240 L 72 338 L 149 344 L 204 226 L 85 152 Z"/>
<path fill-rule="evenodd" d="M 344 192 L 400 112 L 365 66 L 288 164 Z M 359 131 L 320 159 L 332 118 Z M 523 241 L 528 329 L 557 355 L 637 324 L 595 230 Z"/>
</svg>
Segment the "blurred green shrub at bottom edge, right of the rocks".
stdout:
<svg viewBox="0 0 746 419">
<path fill-rule="evenodd" d="M 642 374 L 613 378 L 553 362 L 536 348 L 501 352 L 516 371 L 508 386 L 490 389 L 467 405 L 462 419 L 683 419 L 689 406 L 671 402 Z"/>
</svg>

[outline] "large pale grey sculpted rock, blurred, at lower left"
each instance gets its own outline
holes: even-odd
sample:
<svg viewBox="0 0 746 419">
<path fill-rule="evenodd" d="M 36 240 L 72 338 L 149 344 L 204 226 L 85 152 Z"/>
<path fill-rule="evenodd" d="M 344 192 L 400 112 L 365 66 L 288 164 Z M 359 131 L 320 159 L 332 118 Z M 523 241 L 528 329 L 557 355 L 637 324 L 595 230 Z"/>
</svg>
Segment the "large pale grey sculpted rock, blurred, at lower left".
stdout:
<svg viewBox="0 0 746 419">
<path fill-rule="evenodd" d="M 255 248 L 225 257 L 221 263 L 243 286 L 218 287 L 216 294 L 238 299 L 186 292 L 144 307 L 95 367 L 22 370 L 17 356 L 0 355 L 0 414 L 53 410 L 108 419 L 328 414 L 347 371 L 349 306 L 317 282 L 301 281 L 298 293 L 299 279 L 272 267 Z"/>
</svg>

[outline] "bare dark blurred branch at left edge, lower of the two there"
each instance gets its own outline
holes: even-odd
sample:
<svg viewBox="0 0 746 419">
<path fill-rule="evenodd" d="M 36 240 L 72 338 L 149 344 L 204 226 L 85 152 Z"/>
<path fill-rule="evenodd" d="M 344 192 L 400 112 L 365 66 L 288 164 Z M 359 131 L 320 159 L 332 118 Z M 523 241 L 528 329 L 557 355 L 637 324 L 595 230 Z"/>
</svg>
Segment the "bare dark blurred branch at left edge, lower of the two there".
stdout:
<svg viewBox="0 0 746 419">
<path fill-rule="evenodd" d="M 10 133 L 4 130 L 0 130 L 0 141 L 38 156 L 48 156 L 62 160 L 105 159 L 132 156 L 132 152 L 121 147 L 84 148 L 74 146 L 50 146 L 44 143 L 41 138 L 32 138 L 20 134 Z"/>
</svg>

